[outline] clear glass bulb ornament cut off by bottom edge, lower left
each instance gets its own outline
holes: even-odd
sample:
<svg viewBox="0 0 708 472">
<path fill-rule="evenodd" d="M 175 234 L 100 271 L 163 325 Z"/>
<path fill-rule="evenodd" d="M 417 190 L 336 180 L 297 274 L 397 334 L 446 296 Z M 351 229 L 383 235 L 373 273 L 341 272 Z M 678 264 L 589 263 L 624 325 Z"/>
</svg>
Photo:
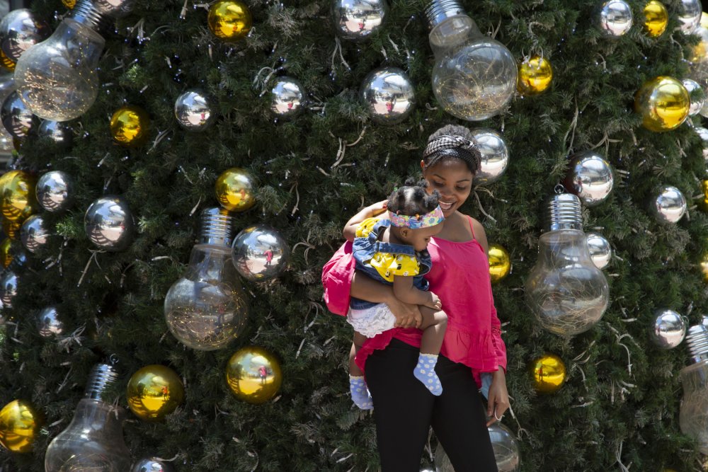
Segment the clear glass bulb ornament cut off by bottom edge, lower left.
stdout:
<svg viewBox="0 0 708 472">
<path fill-rule="evenodd" d="M 125 472 L 130 468 L 130 450 L 123 439 L 125 410 L 102 399 L 117 378 L 107 364 L 93 368 L 86 398 L 79 401 L 74 419 L 47 447 L 45 472 Z"/>
</svg>

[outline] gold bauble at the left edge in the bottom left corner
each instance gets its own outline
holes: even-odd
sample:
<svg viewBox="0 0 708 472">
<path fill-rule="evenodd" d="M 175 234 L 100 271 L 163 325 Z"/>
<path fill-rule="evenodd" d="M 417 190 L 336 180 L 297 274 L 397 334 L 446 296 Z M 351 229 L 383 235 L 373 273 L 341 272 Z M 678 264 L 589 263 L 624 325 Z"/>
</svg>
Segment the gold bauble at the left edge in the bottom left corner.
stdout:
<svg viewBox="0 0 708 472">
<path fill-rule="evenodd" d="M 31 452 L 41 426 L 42 415 L 28 401 L 11 401 L 0 410 L 0 444 L 13 452 Z"/>
</svg>

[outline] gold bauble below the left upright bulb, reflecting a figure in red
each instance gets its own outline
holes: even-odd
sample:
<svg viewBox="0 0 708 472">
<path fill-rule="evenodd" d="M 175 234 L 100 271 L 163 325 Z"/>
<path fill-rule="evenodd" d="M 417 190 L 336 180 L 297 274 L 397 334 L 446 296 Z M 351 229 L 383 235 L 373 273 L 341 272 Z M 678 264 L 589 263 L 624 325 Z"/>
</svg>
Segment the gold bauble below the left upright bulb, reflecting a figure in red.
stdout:
<svg viewBox="0 0 708 472">
<path fill-rule="evenodd" d="M 282 384 L 280 362 L 261 347 L 241 347 L 229 359 L 226 381 L 239 400 L 264 403 L 278 393 Z"/>
</svg>

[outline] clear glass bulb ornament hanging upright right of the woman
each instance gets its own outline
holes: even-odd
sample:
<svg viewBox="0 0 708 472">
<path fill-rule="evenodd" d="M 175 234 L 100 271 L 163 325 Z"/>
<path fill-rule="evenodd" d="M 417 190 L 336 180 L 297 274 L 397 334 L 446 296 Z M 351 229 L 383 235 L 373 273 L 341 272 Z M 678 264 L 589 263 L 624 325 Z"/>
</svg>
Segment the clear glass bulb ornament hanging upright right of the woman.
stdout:
<svg viewBox="0 0 708 472">
<path fill-rule="evenodd" d="M 578 197 L 555 195 L 549 209 L 551 231 L 539 238 L 538 260 L 526 280 L 526 301 L 542 328 L 573 336 L 600 321 L 610 289 L 590 258 Z"/>
</svg>

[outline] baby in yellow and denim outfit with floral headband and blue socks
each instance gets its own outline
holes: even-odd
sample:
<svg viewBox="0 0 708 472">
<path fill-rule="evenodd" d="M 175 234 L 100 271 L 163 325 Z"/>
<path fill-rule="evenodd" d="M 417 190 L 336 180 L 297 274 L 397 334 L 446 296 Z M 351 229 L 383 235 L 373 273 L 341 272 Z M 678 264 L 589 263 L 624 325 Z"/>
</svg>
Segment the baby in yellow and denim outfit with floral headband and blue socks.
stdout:
<svg viewBox="0 0 708 472">
<path fill-rule="evenodd" d="M 344 228 L 344 236 L 354 243 L 356 270 L 382 284 L 392 285 L 401 301 L 421 307 L 423 330 L 421 353 L 413 376 L 435 396 L 442 393 L 435 363 L 445 335 L 447 315 L 441 311 L 437 295 L 428 292 L 423 275 L 430 271 L 428 241 L 442 229 L 440 194 L 428 195 L 415 180 L 406 182 L 389 196 L 355 214 Z M 385 210 L 388 218 L 377 217 Z M 354 343 L 350 351 L 349 380 L 354 403 L 362 410 L 372 408 L 362 370 L 354 361 L 367 338 L 394 328 L 396 316 L 387 304 L 351 299 L 347 321 L 354 327 Z"/>
</svg>

